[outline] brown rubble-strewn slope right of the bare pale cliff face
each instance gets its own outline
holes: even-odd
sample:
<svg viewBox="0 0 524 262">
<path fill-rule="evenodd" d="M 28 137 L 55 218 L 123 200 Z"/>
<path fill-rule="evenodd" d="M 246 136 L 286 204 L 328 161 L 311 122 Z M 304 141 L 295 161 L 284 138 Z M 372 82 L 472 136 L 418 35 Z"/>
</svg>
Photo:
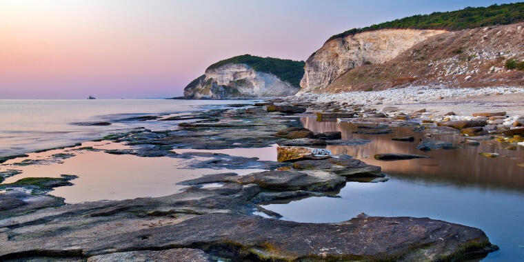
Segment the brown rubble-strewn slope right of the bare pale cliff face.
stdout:
<svg viewBox="0 0 524 262">
<path fill-rule="evenodd" d="M 395 86 L 524 85 L 524 71 L 508 70 L 524 59 L 524 23 L 447 32 L 430 37 L 381 64 L 347 70 L 325 92 L 383 90 Z"/>
</svg>

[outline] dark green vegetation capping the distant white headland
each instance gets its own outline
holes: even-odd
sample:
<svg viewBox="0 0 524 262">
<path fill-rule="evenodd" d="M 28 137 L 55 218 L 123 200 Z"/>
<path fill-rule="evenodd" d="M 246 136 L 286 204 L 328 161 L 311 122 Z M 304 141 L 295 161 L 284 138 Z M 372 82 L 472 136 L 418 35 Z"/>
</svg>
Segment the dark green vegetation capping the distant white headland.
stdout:
<svg viewBox="0 0 524 262">
<path fill-rule="evenodd" d="M 208 70 L 219 68 L 228 63 L 245 63 L 259 72 L 274 74 L 282 81 L 286 81 L 293 86 L 300 87 L 300 80 L 304 75 L 304 61 L 293 61 L 290 59 L 278 59 L 272 57 L 255 57 L 250 54 L 243 54 L 238 57 L 231 57 L 216 62 L 208 67 Z"/>
</svg>

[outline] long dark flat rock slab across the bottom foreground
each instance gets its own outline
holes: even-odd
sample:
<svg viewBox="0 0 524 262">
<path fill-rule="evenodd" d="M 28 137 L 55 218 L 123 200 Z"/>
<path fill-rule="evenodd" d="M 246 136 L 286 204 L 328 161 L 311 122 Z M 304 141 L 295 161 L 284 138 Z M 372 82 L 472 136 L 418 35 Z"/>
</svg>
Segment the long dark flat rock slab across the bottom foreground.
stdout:
<svg viewBox="0 0 524 262">
<path fill-rule="evenodd" d="M 296 223 L 212 213 L 145 228 L 111 224 L 103 228 L 102 232 L 95 231 L 86 224 L 82 229 L 34 228 L 19 232 L 9 241 L 0 239 L 0 259 L 14 254 L 19 258 L 35 254 L 94 256 L 191 247 L 235 261 L 452 261 L 496 250 L 477 228 L 412 217 Z"/>
</svg>

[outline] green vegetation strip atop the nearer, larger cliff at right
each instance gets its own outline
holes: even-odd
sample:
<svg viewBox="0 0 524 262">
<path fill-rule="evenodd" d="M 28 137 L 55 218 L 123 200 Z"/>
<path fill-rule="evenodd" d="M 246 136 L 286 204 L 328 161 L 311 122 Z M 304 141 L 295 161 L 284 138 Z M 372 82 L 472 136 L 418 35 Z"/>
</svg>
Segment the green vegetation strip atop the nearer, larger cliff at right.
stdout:
<svg viewBox="0 0 524 262">
<path fill-rule="evenodd" d="M 467 7 L 450 12 L 433 12 L 417 14 L 385 23 L 379 23 L 365 28 L 353 28 L 341 34 L 335 34 L 328 41 L 339 37 L 357 34 L 359 32 L 379 29 L 444 29 L 463 30 L 483 26 L 507 25 L 524 21 L 524 2 L 507 3 L 487 8 Z"/>
</svg>

